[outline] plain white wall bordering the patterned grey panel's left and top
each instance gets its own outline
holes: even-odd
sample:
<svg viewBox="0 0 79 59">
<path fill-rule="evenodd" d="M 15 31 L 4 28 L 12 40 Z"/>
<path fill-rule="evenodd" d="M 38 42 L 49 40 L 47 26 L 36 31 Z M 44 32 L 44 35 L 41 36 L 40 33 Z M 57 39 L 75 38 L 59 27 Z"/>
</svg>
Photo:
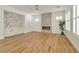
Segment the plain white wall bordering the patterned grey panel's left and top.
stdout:
<svg viewBox="0 0 79 59">
<path fill-rule="evenodd" d="M 9 7 L 9 6 L 5 6 L 5 5 L 4 6 L 1 5 L 0 6 L 0 39 L 4 39 L 4 37 L 5 37 L 5 32 L 4 32 L 4 29 L 5 29 L 4 28 L 4 11 L 5 10 L 25 15 L 24 12 L 21 12 L 18 9 L 15 9 L 15 8 L 12 8 L 12 7 Z"/>
</svg>

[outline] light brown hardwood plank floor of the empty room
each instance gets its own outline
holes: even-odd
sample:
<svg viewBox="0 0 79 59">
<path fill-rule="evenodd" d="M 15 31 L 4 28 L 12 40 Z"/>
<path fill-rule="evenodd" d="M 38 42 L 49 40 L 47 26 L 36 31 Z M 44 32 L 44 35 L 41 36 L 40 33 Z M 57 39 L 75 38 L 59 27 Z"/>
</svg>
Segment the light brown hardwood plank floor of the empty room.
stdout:
<svg viewBox="0 0 79 59">
<path fill-rule="evenodd" d="M 70 53 L 77 52 L 65 36 L 29 32 L 0 40 L 0 52 L 6 53 Z"/>
</svg>

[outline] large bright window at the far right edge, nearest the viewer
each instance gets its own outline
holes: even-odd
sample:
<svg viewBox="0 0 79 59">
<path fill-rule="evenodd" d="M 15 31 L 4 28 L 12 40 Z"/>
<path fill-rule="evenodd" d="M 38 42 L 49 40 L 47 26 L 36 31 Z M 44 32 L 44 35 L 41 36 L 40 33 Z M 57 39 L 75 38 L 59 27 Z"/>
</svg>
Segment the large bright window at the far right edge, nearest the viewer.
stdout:
<svg viewBox="0 0 79 59">
<path fill-rule="evenodd" d="M 73 32 L 79 35 L 79 6 L 73 6 Z"/>
</svg>

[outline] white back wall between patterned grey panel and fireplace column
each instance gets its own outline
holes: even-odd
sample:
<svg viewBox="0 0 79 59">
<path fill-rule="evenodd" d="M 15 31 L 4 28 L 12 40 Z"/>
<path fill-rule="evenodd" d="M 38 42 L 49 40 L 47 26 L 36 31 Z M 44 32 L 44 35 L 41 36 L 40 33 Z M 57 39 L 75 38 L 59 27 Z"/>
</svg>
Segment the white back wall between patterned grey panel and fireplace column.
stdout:
<svg viewBox="0 0 79 59">
<path fill-rule="evenodd" d="M 24 32 L 39 31 L 41 32 L 41 15 L 38 16 L 39 21 L 35 21 L 35 16 L 27 14 L 25 16 Z"/>
</svg>

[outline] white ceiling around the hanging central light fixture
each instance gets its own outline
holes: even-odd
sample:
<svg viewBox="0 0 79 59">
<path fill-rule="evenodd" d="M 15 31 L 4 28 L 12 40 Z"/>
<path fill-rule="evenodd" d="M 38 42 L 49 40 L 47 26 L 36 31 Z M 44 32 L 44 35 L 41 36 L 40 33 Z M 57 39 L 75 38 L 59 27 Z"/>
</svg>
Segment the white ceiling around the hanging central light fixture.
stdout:
<svg viewBox="0 0 79 59">
<path fill-rule="evenodd" d="M 26 13 L 33 13 L 35 10 L 35 5 L 9 5 L 9 6 L 19 9 L 22 12 Z M 39 13 L 62 11 L 70 7 L 71 5 L 38 5 Z"/>
</svg>

